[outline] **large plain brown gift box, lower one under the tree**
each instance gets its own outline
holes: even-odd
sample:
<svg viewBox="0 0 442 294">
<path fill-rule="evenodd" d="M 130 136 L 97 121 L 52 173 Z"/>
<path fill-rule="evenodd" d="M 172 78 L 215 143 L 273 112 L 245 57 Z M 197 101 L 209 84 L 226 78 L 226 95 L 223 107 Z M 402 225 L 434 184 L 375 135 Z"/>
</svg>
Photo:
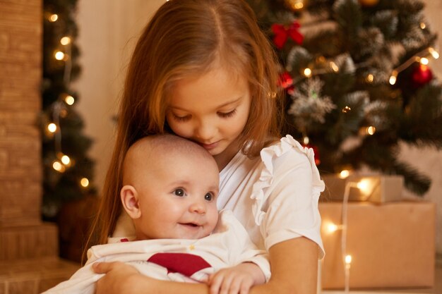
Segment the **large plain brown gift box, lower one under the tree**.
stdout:
<svg viewBox="0 0 442 294">
<path fill-rule="evenodd" d="M 321 202 L 325 258 L 323 289 L 344 288 L 341 202 Z M 347 253 L 350 288 L 424 288 L 434 285 L 436 207 L 428 202 L 349 202 Z M 333 226 L 332 226 L 333 228 Z M 336 227 L 334 227 L 336 228 Z"/>
</svg>

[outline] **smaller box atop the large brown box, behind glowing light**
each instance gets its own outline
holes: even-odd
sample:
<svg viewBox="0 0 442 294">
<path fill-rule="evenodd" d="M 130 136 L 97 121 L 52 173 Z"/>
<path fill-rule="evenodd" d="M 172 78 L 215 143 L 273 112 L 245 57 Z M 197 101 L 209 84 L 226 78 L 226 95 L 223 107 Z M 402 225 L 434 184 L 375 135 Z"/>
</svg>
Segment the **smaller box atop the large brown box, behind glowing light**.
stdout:
<svg viewBox="0 0 442 294">
<path fill-rule="evenodd" d="M 321 200 L 342 200 L 345 186 L 353 184 L 349 189 L 350 201 L 369 201 L 383 203 L 402 200 L 404 178 L 395 175 L 368 176 L 354 174 L 341 178 L 338 174 L 321 176 L 325 183 L 325 191 Z M 360 184 L 360 188 L 357 186 Z"/>
</svg>

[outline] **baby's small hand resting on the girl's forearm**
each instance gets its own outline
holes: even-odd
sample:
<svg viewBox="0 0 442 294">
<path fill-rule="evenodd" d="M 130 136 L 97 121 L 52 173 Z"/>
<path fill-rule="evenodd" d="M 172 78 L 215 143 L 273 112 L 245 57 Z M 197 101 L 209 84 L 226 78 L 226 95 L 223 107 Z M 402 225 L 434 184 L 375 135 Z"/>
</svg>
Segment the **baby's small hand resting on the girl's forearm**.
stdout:
<svg viewBox="0 0 442 294">
<path fill-rule="evenodd" d="M 238 264 L 236 267 L 220 269 L 210 275 L 210 294 L 248 294 L 251 286 L 265 283 L 261 269 L 253 263 Z"/>
</svg>

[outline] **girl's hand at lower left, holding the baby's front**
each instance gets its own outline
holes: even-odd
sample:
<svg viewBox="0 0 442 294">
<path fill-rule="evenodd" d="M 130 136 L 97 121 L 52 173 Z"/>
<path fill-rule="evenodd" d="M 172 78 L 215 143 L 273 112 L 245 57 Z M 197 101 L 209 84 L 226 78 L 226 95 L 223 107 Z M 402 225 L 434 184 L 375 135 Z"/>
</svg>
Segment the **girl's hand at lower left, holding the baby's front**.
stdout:
<svg viewBox="0 0 442 294">
<path fill-rule="evenodd" d="M 96 274 L 105 274 L 97 281 L 95 294 L 136 293 L 146 277 L 123 262 L 97 262 L 92 264 Z M 143 280 L 143 281 L 141 281 Z"/>
</svg>

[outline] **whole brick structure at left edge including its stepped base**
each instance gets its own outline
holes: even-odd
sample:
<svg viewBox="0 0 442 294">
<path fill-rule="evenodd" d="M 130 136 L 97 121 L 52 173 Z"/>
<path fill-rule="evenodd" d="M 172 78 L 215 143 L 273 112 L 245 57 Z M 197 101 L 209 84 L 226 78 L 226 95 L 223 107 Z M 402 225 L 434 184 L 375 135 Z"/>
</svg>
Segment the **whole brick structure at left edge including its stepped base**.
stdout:
<svg viewBox="0 0 442 294">
<path fill-rule="evenodd" d="M 37 294 L 78 264 L 42 223 L 42 0 L 0 0 L 0 294 Z"/>
</svg>

